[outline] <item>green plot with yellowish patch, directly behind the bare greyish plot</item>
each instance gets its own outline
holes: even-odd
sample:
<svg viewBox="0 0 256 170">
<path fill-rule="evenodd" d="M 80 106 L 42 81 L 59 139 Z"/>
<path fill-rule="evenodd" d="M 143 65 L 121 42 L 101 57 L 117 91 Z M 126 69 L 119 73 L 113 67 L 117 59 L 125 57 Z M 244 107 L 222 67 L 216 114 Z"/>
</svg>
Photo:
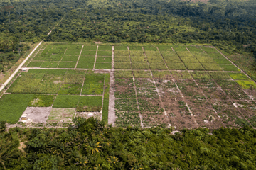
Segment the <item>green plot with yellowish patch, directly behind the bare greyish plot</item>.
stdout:
<svg viewBox="0 0 256 170">
<path fill-rule="evenodd" d="M 55 95 L 34 95 L 28 103 L 30 107 L 50 107 L 53 105 Z"/>
</svg>

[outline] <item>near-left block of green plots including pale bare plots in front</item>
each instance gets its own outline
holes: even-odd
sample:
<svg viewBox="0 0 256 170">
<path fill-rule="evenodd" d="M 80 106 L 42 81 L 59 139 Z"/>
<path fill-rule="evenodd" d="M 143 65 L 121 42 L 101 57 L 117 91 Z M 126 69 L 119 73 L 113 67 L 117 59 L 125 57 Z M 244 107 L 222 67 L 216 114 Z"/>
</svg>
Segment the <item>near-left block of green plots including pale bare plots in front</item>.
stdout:
<svg viewBox="0 0 256 170">
<path fill-rule="evenodd" d="M 0 120 L 17 123 L 23 116 L 32 123 L 57 125 L 78 116 L 101 119 L 108 112 L 109 82 L 110 74 L 92 70 L 29 69 L 0 98 Z"/>
</svg>

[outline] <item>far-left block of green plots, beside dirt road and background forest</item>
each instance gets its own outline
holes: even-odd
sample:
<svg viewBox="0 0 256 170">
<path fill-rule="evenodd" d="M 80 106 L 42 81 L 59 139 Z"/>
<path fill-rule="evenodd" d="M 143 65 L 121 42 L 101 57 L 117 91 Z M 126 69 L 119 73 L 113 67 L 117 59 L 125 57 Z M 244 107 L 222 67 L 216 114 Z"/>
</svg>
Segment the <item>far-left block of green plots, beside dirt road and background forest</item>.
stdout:
<svg viewBox="0 0 256 170">
<path fill-rule="evenodd" d="M 111 46 L 43 45 L 26 67 L 111 69 Z"/>
</svg>

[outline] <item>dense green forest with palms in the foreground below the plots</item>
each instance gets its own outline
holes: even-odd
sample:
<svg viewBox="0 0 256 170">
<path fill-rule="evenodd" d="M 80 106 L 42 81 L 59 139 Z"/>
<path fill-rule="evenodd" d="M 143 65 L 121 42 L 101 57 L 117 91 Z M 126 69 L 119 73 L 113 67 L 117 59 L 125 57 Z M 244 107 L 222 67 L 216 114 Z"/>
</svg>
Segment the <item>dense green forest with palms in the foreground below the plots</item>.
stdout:
<svg viewBox="0 0 256 170">
<path fill-rule="evenodd" d="M 256 169 L 256 130 L 106 127 L 78 118 L 63 128 L 0 133 L 0 169 Z M 20 146 L 21 145 L 21 146 Z M 21 149 L 25 147 L 25 149 Z"/>
</svg>

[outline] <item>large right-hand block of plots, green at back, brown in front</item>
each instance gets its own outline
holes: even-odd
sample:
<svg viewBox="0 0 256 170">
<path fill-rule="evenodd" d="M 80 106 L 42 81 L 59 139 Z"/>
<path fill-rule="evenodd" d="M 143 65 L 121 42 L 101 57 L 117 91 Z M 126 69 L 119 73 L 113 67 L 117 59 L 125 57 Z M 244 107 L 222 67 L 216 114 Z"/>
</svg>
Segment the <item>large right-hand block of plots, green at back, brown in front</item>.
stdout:
<svg viewBox="0 0 256 170">
<path fill-rule="evenodd" d="M 115 124 L 221 128 L 253 125 L 255 82 L 211 47 L 115 47 Z"/>
</svg>

